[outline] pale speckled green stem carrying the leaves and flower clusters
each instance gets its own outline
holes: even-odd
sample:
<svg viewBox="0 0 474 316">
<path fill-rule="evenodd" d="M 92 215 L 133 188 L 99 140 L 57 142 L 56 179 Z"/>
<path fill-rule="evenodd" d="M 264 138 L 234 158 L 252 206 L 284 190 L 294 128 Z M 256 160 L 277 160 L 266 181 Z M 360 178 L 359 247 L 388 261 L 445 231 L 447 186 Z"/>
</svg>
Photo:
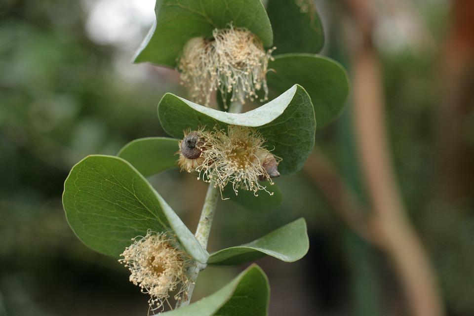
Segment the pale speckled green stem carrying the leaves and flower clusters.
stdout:
<svg viewBox="0 0 474 316">
<path fill-rule="evenodd" d="M 239 102 L 232 102 L 229 106 L 230 113 L 240 113 L 242 111 L 242 104 Z M 215 187 L 214 181 L 209 183 L 207 188 L 206 197 L 204 199 L 204 205 L 202 206 L 201 217 L 196 229 L 196 239 L 199 241 L 201 246 L 206 249 L 207 241 L 209 240 L 209 234 L 211 231 L 212 220 L 214 219 L 214 213 L 216 211 L 217 201 L 219 200 L 219 189 Z M 193 266 L 188 269 L 189 275 L 189 287 L 187 290 L 180 295 L 176 308 L 189 305 L 191 297 L 193 296 L 194 286 L 196 285 L 197 276 L 199 272 L 206 267 L 205 264 L 196 262 Z"/>
</svg>

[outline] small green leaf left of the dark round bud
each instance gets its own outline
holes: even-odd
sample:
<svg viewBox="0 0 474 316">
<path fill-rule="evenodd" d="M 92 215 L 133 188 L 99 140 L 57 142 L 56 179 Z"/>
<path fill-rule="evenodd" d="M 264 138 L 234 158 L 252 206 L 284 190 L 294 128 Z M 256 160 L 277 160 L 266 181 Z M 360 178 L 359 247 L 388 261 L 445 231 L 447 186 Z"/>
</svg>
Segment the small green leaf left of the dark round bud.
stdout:
<svg viewBox="0 0 474 316">
<path fill-rule="evenodd" d="M 145 177 L 176 167 L 178 139 L 146 137 L 126 144 L 118 157 L 130 162 Z"/>
</svg>

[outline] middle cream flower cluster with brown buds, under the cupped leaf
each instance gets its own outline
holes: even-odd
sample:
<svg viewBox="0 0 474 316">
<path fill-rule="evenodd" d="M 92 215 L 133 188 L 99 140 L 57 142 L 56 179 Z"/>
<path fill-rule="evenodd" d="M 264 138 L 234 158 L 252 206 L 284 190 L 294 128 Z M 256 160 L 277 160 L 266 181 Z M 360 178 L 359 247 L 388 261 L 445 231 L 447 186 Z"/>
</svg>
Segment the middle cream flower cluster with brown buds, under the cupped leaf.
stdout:
<svg viewBox="0 0 474 316">
<path fill-rule="evenodd" d="M 229 125 L 227 132 L 200 129 L 185 133 L 180 146 L 192 134 L 201 140 L 200 155 L 195 159 L 186 158 L 181 150 L 178 164 L 182 170 L 196 170 L 199 178 L 206 182 L 212 180 L 221 192 L 232 183 L 236 195 L 239 189 L 252 191 L 255 196 L 259 190 L 272 194 L 259 181 L 270 180 L 274 184 L 271 179 L 280 175 L 277 166 L 281 158 L 266 149 L 261 133 L 251 127 L 236 125 Z"/>
</svg>

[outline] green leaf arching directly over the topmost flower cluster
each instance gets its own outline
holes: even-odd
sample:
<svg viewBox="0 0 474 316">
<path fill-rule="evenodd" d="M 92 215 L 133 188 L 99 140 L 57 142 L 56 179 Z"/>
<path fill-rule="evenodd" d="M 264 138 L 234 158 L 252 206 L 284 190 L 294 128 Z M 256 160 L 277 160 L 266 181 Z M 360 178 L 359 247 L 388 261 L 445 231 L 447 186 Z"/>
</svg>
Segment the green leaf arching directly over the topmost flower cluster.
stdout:
<svg viewBox="0 0 474 316">
<path fill-rule="evenodd" d="M 272 26 L 260 0 L 157 0 L 155 13 L 155 24 L 134 62 L 175 67 L 188 40 L 211 37 L 214 29 L 228 28 L 230 23 L 246 28 L 266 47 L 273 44 Z"/>
</svg>

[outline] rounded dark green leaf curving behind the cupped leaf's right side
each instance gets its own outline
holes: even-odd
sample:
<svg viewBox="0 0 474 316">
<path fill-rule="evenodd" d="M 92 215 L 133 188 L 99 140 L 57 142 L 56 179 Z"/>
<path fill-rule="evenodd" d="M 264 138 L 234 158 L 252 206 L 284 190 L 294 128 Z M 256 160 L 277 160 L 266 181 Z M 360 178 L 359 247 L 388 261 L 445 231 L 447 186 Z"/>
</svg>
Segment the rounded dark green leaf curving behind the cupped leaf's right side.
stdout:
<svg viewBox="0 0 474 316">
<path fill-rule="evenodd" d="M 345 109 L 349 79 L 344 68 L 330 58 L 312 54 L 278 55 L 269 63 L 270 96 L 276 97 L 293 84 L 301 84 L 315 107 L 317 129 L 321 129 Z"/>
</svg>

